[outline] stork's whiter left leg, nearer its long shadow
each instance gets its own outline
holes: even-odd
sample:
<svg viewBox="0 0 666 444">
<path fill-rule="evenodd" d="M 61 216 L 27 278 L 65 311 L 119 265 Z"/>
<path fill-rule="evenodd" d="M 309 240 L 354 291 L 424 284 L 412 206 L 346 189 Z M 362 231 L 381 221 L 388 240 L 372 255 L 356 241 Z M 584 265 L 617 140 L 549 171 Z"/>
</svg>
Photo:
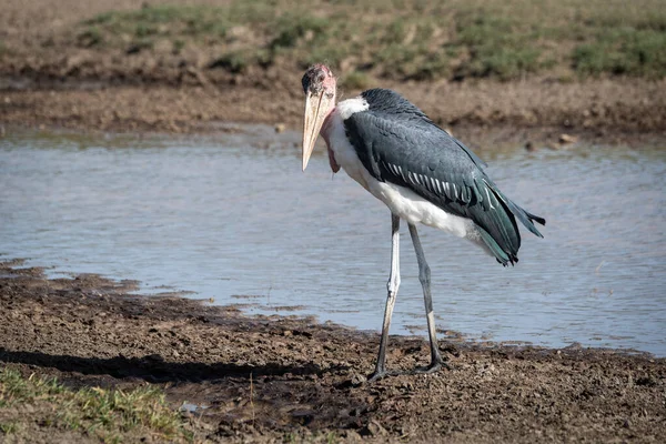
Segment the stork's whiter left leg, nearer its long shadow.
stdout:
<svg viewBox="0 0 666 444">
<path fill-rule="evenodd" d="M 367 381 L 376 381 L 386 375 L 386 344 L 389 343 L 389 327 L 391 326 L 391 316 L 393 306 L 400 287 L 400 218 L 391 214 L 391 274 L 386 283 L 387 296 L 386 309 L 384 310 L 384 324 L 382 325 L 382 339 L 380 341 L 380 354 L 377 364 L 373 374 Z"/>
</svg>

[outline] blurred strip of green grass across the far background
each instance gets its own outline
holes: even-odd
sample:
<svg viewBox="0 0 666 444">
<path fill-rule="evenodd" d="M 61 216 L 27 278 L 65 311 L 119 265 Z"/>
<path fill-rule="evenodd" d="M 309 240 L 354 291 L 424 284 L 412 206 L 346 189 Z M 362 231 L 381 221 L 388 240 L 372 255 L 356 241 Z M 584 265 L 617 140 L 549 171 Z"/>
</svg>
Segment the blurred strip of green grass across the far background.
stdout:
<svg viewBox="0 0 666 444">
<path fill-rule="evenodd" d="M 145 6 L 78 27 L 77 44 L 174 53 L 199 47 L 210 68 L 243 72 L 313 62 L 366 78 L 512 80 L 563 71 L 666 77 L 663 0 L 232 0 L 228 6 Z M 356 82 L 356 80 L 350 80 Z"/>
</svg>

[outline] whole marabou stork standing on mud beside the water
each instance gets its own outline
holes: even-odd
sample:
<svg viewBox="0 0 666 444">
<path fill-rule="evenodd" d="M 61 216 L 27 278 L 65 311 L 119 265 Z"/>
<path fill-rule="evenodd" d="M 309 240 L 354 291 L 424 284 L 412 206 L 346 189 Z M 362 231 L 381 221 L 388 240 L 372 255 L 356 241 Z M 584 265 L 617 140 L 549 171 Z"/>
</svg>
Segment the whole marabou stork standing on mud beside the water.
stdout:
<svg viewBox="0 0 666 444">
<path fill-rule="evenodd" d="M 467 239 L 506 266 L 518 261 L 516 219 L 539 238 L 543 235 L 533 222 L 544 225 L 546 221 L 504 195 L 483 171 L 485 163 L 476 154 L 396 92 L 372 89 L 335 104 L 336 80 L 323 64 L 311 67 L 302 83 L 303 171 L 321 133 L 333 172 L 344 169 L 391 210 L 389 295 L 376 367 L 369 379 L 386 375 L 389 327 L 400 286 L 401 219 L 407 222 L 418 261 L 431 345 L 431 364 L 415 372 L 435 372 L 446 364 L 437 347 L 431 272 L 416 223 Z"/>
</svg>

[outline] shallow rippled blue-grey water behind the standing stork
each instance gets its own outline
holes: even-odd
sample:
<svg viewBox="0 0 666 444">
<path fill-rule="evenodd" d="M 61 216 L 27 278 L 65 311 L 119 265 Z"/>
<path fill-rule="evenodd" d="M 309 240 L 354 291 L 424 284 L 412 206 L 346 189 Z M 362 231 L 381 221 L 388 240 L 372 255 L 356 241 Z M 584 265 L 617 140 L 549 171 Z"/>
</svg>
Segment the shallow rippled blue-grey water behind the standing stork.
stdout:
<svg viewBox="0 0 666 444">
<path fill-rule="evenodd" d="M 0 256 L 192 291 L 251 313 L 379 330 L 390 214 L 299 134 L 0 139 Z M 321 150 L 320 150 L 321 152 Z M 437 324 L 470 340 L 666 355 L 666 150 L 480 152 L 502 190 L 548 224 L 504 269 L 423 228 Z M 424 333 L 406 226 L 392 333 Z"/>
</svg>

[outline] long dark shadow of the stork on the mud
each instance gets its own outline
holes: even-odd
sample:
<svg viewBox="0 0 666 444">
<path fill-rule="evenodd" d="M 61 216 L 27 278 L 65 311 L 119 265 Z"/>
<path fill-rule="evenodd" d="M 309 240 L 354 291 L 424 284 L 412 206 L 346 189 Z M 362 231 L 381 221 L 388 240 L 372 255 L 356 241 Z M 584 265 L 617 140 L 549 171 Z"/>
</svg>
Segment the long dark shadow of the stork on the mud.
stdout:
<svg viewBox="0 0 666 444">
<path fill-rule="evenodd" d="M 52 355 L 42 352 L 9 351 L 0 347 L 0 362 L 18 363 L 61 372 L 77 372 L 83 375 L 112 376 L 114 379 L 141 379 L 150 383 L 204 382 L 224 379 L 249 379 L 252 376 L 301 376 L 323 374 L 344 370 L 342 367 L 321 369 L 315 364 L 281 365 L 266 363 L 249 365 L 234 363 L 169 362 L 160 355 L 109 359 Z"/>
</svg>

